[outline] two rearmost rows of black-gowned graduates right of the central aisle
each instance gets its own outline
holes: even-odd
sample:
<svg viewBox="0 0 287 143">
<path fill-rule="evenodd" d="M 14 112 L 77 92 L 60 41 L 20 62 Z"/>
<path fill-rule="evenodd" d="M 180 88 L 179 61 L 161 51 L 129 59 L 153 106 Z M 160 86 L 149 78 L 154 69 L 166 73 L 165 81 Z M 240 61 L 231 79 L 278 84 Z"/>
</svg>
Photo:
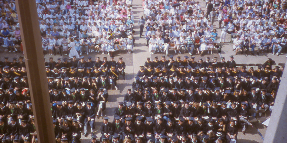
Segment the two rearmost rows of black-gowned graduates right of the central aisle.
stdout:
<svg viewBox="0 0 287 143">
<path fill-rule="evenodd" d="M 188 60 L 189 57 L 185 56 L 183 61 L 181 61 L 181 57 L 177 57 L 176 61 L 173 60 L 173 55 L 170 55 L 169 57 L 169 60 L 166 60 L 165 56 L 162 56 L 161 60 L 158 60 L 158 57 L 154 57 L 153 61 L 150 61 L 150 58 L 148 57 L 144 64 L 144 69 L 141 68 L 137 73 L 137 76 L 141 79 L 146 76 L 149 78 L 152 78 L 153 76 L 165 78 L 199 77 L 199 80 L 201 80 L 201 77 L 203 76 L 208 78 L 217 78 L 218 80 L 221 77 L 224 78 L 229 76 L 234 78 L 243 77 L 242 79 L 244 79 L 245 76 L 251 76 L 260 80 L 268 78 L 268 81 L 271 81 L 274 76 L 280 79 L 284 69 L 284 67 L 280 69 L 280 67 L 276 66 L 272 70 L 271 64 L 268 63 L 273 64 L 275 61 L 271 58 L 269 58 L 262 66 L 258 66 L 257 70 L 255 70 L 254 67 L 250 67 L 250 69 L 247 70 L 246 66 L 242 66 L 242 70 L 238 70 L 232 55 L 230 56 L 230 60 L 227 62 L 225 62 L 225 57 L 222 57 L 221 61 L 217 61 L 218 58 L 214 57 L 213 62 L 210 61 L 209 57 L 206 58 L 206 61 L 199 58 L 198 62 L 195 61 L 195 57 L 191 57 L 191 59 Z M 219 68 L 221 69 L 219 70 Z"/>
</svg>

